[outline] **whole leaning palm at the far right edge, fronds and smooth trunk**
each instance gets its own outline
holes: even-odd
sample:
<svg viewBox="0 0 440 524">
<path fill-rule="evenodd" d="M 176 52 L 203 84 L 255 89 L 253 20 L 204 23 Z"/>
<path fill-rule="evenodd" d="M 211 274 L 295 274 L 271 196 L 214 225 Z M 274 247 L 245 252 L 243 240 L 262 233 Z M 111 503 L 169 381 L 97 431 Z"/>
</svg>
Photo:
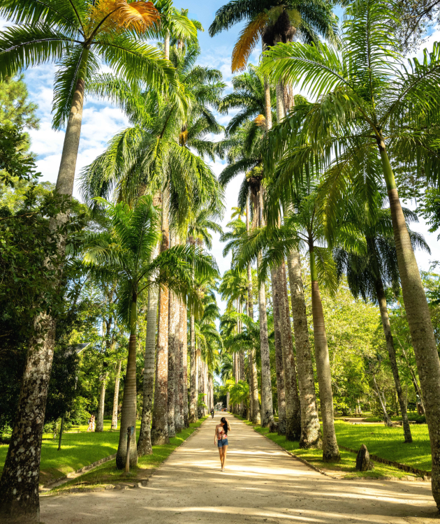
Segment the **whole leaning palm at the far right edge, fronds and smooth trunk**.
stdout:
<svg viewBox="0 0 440 524">
<path fill-rule="evenodd" d="M 395 19 L 381 0 L 359 0 L 346 10 L 341 52 L 321 45 L 280 43 L 267 51 L 263 71 L 309 90 L 316 103 L 291 111 L 277 130 L 277 152 L 269 147 L 267 160 L 282 160 L 274 182 L 274 209 L 279 198 L 302 177 L 313 159 L 328 168 L 326 205 L 344 206 L 347 184 L 369 187 L 385 181 L 390 200 L 397 262 L 404 305 L 411 331 L 432 446 L 432 493 L 440 507 L 440 361 L 425 290 L 418 271 L 400 204 L 393 163 L 415 166 L 421 176 L 437 177 L 439 154 L 438 83 L 440 45 L 423 61 L 404 64 L 395 50 Z M 335 112 L 337 110 L 337 112 Z M 287 150 L 286 150 L 287 147 Z M 284 154 L 286 153 L 286 154 Z M 374 209 L 373 192 L 367 205 Z M 277 216 L 277 212 L 273 217 Z M 335 221 L 328 224 L 332 234 Z"/>
</svg>

